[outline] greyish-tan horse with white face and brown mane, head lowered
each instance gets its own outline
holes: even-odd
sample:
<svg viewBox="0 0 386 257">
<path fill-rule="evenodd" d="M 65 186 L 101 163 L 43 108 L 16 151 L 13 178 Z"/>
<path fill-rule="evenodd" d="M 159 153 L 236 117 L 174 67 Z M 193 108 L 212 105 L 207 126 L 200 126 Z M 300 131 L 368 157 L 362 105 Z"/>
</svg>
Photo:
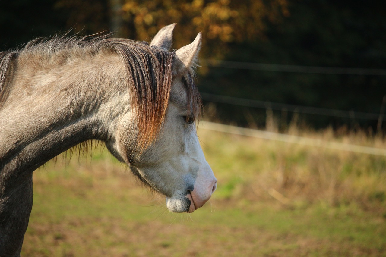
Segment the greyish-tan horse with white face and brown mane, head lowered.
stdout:
<svg viewBox="0 0 386 257">
<path fill-rule="evenodd" d="M 32 172 L 90 140 L 103 142 L 172 212 L 216 189 L 196 134 L 201 32 L 170 51 L 176 24 L 151 43 L 109 35 L 35 39 L 0 52 L 0 256 L 20 256 Z"/>
</svg>

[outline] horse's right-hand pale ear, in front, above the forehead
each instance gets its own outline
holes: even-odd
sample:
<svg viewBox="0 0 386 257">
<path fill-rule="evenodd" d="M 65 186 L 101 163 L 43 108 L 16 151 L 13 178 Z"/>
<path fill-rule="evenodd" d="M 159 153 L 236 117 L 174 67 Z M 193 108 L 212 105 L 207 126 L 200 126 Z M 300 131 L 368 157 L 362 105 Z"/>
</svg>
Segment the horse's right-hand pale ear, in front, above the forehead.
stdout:
<svg viewBox="0 0 386 257">
<path fill-rule="evenodd" d="M 201 49 L 201 32 L 198 33 L 193 43 L 183 46 L 176 51 L 173 59 L 173 73 L 181 74 L 197 65 L 198 52 Z"/>
</svg>

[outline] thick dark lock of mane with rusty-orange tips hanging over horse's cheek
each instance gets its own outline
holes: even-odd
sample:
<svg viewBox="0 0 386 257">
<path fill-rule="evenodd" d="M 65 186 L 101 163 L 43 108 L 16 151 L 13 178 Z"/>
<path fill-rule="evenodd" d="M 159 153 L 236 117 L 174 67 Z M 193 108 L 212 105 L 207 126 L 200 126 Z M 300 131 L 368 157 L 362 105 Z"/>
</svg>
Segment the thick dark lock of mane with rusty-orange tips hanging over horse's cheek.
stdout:
<svg viewBox="0 0 386 257">
<path fill-rule="evenodd" d="M 112 42 L 112 47 L 122 57 L 132 104 L 137 116 L 140 151 L 146 149 L 157 137 L 168 108 L 172 81 L 173 53 L 153 47 L 128 48 L 125 42 Z"/>
</svg>

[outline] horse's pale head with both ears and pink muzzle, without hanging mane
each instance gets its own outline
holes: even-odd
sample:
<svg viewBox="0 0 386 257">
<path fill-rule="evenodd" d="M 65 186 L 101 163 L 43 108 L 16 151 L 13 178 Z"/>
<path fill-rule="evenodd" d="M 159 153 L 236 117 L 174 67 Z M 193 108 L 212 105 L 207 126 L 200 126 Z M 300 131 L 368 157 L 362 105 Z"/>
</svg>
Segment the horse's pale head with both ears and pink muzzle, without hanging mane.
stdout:
<svg viewBox="0 0 386 257">
<path fill-rule="evenodd" d="M 169 51 L 175 24 L 161 29 L 149 47 Z M 205 160 L 196 134 L 196 119 L 201 107 L 194 84 L 201 33 L 173 55 L 171 86 L 165 117 L 156 139 L 143 150 L 133 150 L 124 137 L 129 134 L 126 121 L 117 129 L 117 144 L 111 149 L 118 159 L 130 163 L 132 172 L 155 191 L 166 196 L 173 212 L 193 212 L 207 202 L 217 180 Z"/>
</svg>

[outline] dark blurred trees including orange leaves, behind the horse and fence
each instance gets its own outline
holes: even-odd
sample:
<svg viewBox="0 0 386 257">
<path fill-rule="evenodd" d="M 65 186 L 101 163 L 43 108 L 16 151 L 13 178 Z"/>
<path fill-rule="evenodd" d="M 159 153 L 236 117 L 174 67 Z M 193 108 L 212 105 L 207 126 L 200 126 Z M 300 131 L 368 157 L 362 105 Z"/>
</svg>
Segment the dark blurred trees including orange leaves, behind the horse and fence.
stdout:
<svg viewBox="0 0 386 257">
<path fill-rule="evenodd" d="M 112 30 L 115 36 L 150 41 L 174 22 L 176 49 L 203 32 L 201 59 L 386 68 L 386 1 L 0 0 L 0 50 L 71 28 L 70 34 Z M 386 94 L 385 76 L 205 66 L 200 71 L 203 92 L 295 105 L 377 113 Z M 249 111 L 265 119 L 265 110 Z M 246 123 L 239 107 L 218 105 L 221 112 L 223 120 Z M 320 127 L 350 122 L 316 115 L 309 120 Z"/>
</svg>

